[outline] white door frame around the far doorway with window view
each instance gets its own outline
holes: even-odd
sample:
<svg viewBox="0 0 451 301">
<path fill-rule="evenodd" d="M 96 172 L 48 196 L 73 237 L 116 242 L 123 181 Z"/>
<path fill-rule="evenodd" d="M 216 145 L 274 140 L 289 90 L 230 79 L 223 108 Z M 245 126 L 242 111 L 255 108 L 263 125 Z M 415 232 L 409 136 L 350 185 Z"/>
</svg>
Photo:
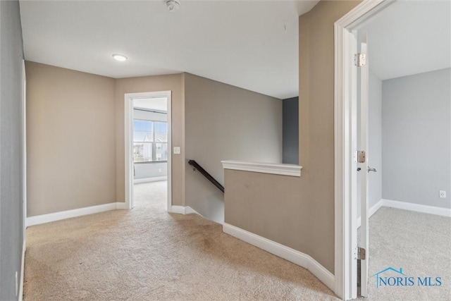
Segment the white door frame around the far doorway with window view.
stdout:
<svg viewBox="0 0 451 301">
<path fill-rule="evenodd" d="M 168 99 L 168 212 L 172 207 L 172 119 L 171 119 L 171 91 L 142 92 L 125 94 L 124 116 L 124 147 L 125 147 L 125 209 L 132 209 L 133 199 L 133 99 L 166 97 Z"/>
</svg>

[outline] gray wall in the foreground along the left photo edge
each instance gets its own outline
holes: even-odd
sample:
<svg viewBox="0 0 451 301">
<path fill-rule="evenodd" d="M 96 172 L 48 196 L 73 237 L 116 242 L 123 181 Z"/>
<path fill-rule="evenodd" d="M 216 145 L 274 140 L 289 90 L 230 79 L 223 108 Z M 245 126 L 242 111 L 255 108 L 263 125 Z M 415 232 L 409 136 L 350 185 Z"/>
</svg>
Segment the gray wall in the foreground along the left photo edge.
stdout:
<svg viewBox="0 0 451 301">
<path fill-rule="evenodd" d="M 0 300 L 18 299 L 24 240 L 22 60 L 19 2 L 0 1 Z"/>
</svg>

